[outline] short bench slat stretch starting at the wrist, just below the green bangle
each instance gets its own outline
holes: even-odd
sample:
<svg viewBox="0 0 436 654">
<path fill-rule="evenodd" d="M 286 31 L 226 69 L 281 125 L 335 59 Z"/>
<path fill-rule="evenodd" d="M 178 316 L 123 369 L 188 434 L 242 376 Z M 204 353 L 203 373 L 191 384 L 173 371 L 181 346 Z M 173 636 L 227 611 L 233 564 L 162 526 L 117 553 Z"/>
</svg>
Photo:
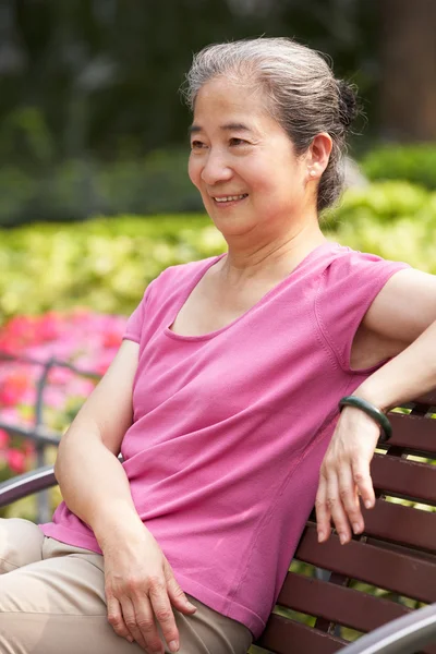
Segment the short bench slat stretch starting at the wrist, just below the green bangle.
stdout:
<svg viewBox="0 0 436 654">
<path fill-rule="evenodd" d="M 392 437 L 389 446 L 428 455 L 436 453 L 436 420 L 421 415 L 389 413 Z M 432 458 L 432 457 L 428 458 Z"/>
</svg>

